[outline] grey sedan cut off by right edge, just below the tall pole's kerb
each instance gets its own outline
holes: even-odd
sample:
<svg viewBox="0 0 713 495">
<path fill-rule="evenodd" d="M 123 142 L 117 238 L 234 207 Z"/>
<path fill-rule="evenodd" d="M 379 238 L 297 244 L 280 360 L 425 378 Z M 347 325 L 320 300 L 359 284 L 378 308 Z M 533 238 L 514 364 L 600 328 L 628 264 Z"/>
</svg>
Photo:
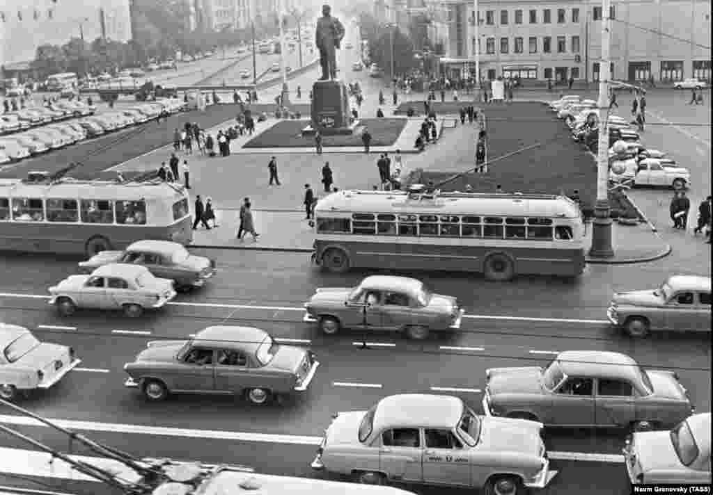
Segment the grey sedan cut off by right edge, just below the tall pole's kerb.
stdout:
<svg viewBox="0 0 713 495">
<path fill-rule="evenodd" d="M 672 275 L 653 290 L 615 292 L 607 319 L 632 337 L 652 330 L 709 332 L 711 278 Z"/>
</svg>

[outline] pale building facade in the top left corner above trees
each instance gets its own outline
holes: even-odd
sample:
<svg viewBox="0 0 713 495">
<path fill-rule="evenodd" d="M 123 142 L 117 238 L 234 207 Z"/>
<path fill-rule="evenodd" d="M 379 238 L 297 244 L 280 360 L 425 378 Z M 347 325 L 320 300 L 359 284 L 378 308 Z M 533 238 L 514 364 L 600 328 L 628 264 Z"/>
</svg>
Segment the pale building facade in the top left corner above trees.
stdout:
<svg viewBox="0 0 713 495">
<path fill-rule="evenodd" d="M 129 0 L 0 1 L 0 65 L 8 70 L 33 61 L 44 43 L 63 45 L 81 36 L 128 41 Z"/>
</svg>

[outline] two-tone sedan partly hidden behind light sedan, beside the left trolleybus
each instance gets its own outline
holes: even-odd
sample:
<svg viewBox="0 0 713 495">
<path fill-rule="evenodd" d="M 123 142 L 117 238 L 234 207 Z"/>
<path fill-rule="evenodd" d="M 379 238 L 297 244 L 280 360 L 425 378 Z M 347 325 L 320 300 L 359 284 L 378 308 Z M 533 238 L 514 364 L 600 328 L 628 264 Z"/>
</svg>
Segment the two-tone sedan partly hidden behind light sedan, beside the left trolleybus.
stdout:
<svg viewBox="0 0 713 495">
<path fill-rule="evenodd" d="M 101 251 L 79 263 L 80 273 L 91 273 L 111 263 L 145 266 L 159 278 L 170 278 L 178 291 L 202 287 L 215 275 L 215 261 L 190 254 L 183 244 L 171 241 L 136 241 L 125 251 Z"/>
</svg>

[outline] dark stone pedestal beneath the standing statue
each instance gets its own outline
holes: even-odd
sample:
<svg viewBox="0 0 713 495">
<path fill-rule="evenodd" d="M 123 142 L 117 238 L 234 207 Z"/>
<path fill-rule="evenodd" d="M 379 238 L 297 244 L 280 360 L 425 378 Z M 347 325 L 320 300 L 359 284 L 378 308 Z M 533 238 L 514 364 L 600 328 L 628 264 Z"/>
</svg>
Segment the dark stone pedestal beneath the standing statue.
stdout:
<svg viewBox="0 0 713 495">
<path fill-rule="evenodd" d="M 312 123 L 302 135 L 349 135 L 359 125 L 349 112 L 347 85 L 341 80 L 318 80 L 312 85 Z"/>
</svg>

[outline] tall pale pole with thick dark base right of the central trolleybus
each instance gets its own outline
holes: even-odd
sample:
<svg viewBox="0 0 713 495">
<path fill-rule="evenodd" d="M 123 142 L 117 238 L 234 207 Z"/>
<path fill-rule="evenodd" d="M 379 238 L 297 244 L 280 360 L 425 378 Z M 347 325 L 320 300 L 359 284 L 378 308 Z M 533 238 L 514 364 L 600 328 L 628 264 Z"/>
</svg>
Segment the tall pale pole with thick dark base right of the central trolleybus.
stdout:
<svg viewBox="0 0 713 495">
<path fill-rule="evenodd" d="M 611 0 L 602 0 L 602 55 L 599 61 L 599 149 L 597 154 L 597 201 L 594 207 L 592 247 L 589 255 L 611 258 L 612 219 L 609 208 L 609 80 L 611 78 Z"/>
</svg>

